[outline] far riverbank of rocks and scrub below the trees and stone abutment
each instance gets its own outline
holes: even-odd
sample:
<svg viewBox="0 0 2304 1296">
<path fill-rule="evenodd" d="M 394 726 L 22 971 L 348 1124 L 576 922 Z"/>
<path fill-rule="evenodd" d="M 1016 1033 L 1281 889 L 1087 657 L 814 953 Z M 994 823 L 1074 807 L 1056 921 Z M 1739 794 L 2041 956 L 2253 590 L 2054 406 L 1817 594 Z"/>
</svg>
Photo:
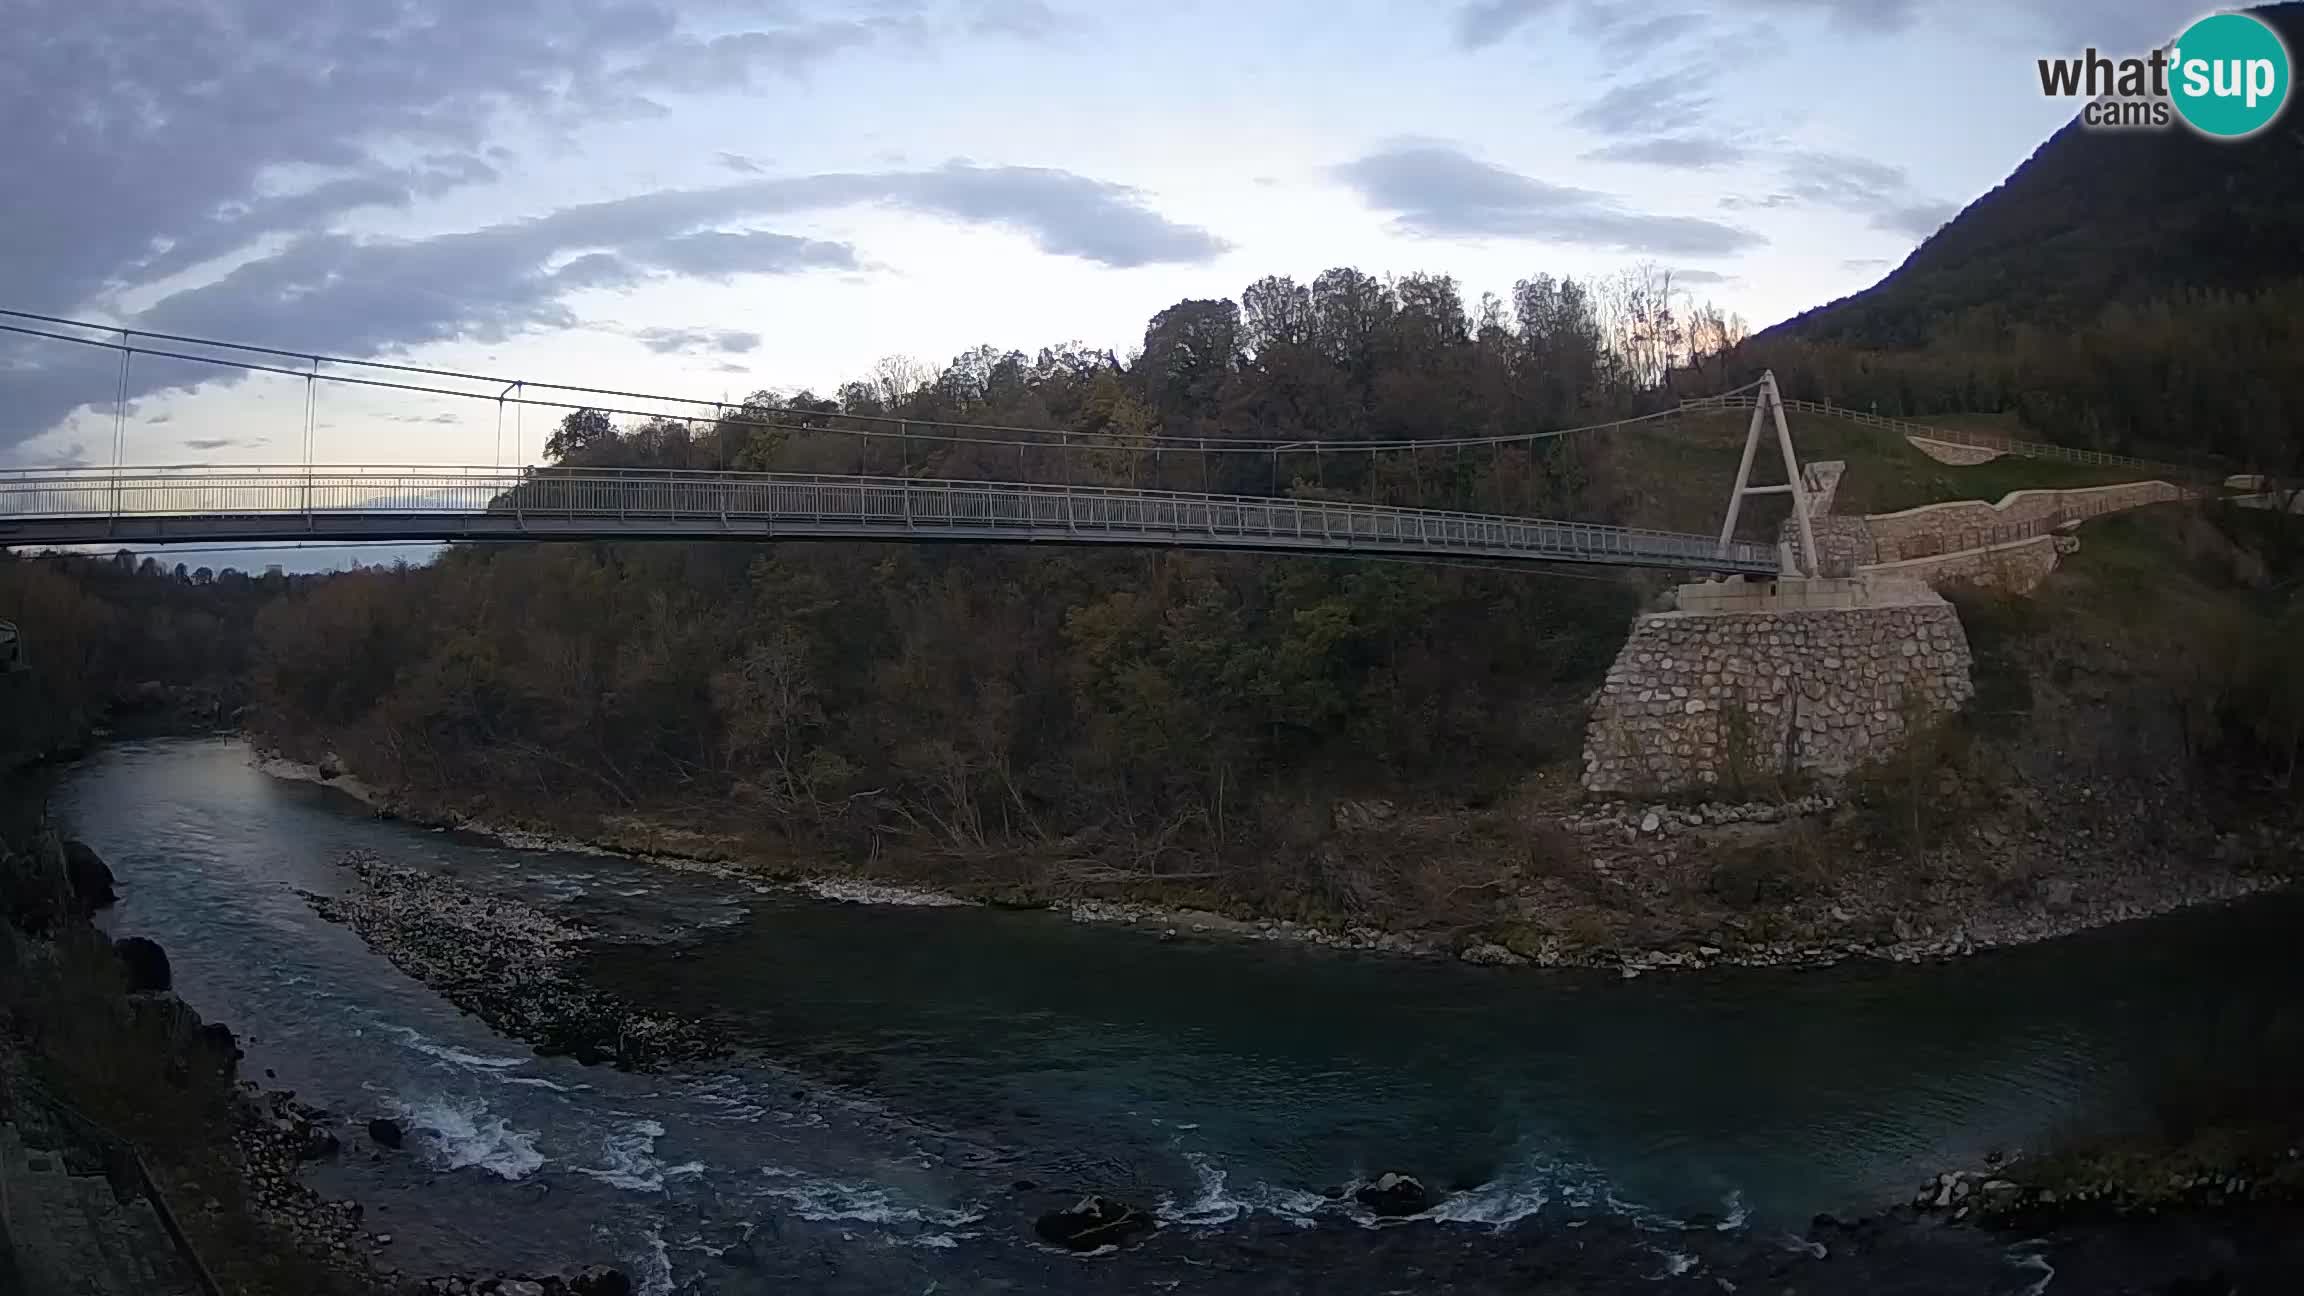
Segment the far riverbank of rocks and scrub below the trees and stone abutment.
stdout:
<svg viewBox="0 0 2304 1296">
<path fill-rule="evenodd" d="M 265 754 L 272 777 L 318 782 L 378 814 L 454 828 L 514 849 L 601 851 L 737 886 L 797 886 L 859 904 L 1048 909 L 1164 936 L 1293 941 L 1332 950 L 1456 957 L 1484 966 L 1597 969 L 1624 978 L 1707 966 L 1931 962 L 2226 904 L 2292 883 L 2295 830 L 2219 830 L 2170 784 L 1931 784 L 1958 821 L 1882 828 L 1896 807 L 1809 791 L 1744 803 L 1583 805 L 1530 779 L 1481 812 L 1348 800 L 1332 839 L 1357 858 L 1422 860 L 1449 886 L 1447 916 L 1422 929 L 1272 913 L 1196 879 L 993 867 L 889 851 L 864 869 L 772 853 L 740 830 L 641 814 L 505 823 L 426 805 L 341 770 Z M 1945 819 L 1947 807 L 1931 809 Z M 933 883 L 931 883 L 933 879 Z M 1458 892 L 1477 895 L 1468 911 Z M 1193 895 L 1196 902 L 1150 899 Z"/>
</svg>

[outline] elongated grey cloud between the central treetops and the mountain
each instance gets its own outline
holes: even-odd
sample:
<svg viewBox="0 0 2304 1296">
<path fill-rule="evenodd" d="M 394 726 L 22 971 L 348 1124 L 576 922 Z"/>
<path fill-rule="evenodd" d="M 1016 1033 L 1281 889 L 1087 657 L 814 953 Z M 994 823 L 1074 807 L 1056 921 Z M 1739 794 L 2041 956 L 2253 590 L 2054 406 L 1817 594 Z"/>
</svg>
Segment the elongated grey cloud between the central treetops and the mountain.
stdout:
<svg viewBox="0 0 2304 1296">
<path fill-rule="evenodd" d="M 1634 212 L 1608 194 L 1548 184 L 1440 143 L 1396 143 L 1334 173 L 1422 238 L 1537 238 L 1657 256 L 1726 256 L 1765 242 L 1721 221 Z"/>
</svg>

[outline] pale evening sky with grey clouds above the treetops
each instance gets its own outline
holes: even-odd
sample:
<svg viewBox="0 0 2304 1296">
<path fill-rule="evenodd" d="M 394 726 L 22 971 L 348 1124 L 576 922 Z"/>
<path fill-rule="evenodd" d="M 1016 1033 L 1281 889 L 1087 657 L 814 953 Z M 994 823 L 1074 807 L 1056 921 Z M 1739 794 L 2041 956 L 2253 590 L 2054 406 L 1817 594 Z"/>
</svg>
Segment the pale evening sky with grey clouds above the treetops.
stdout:
<svg viewBox="0 0 2304 1296">
<path fill-rule="evenodd" d="M 1329 265 L 1638 261 L 1756 325 L 1878 279 L 2069 115 L 2032 60 L 2196 0 L 16 0 L 0 307 L 617 387 L 1127 351 Z M 295 461 L 295 380 L 138 360 L 127 459 Z M 0 341 L 0 466 L 118 360 Z M 325 394 L 323 461 L 495 415 Z M 535 457 L 537 429 L 516 429 Z"/>
</svg>

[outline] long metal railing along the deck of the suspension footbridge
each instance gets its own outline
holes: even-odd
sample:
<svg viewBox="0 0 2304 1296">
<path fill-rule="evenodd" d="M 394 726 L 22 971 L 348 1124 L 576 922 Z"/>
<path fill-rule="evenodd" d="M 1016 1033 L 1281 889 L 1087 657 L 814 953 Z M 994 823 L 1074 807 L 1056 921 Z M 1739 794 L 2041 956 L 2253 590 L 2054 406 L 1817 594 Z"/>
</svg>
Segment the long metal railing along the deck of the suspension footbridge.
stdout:
<svg viewBox="0 0 2304 1296">
<path fill-rule="evenodd" d="M 173 466 L 0 473 L 0 542 L 189 540 L 274 530 L 442 540 L 571 530 L 949 540 L 1122 540 L 1251 549 L 1433 551 L 1488 558 L 1774 572 L 1772 544 L 1707 535 L 1293 496 L 652 468 Z M 240 526 L 235 526 L 240 521 Z M 141 523 L 141 526 L 131 526 Z M 90 530 L 101 533 L 90 535 Z"/>
</svg>

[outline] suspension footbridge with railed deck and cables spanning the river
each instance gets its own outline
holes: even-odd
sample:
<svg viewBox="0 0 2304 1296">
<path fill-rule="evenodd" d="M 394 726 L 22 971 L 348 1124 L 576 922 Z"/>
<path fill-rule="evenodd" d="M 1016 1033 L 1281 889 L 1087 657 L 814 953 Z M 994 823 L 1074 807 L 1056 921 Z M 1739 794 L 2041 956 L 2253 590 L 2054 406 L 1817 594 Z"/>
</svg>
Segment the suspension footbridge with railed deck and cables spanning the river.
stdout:
<svg viewBox="0 0 2304 1296">
<path fill-rule="evenodd" d="M 730 408 L 717 401 L 643 397 L 601 387 L 507 380 L 366 360 L 297 355 L 138 330 L 106 330 L 51 316 L 0 311 L 32 323 L 0 332 L 118 353 L 113 392 L 115 464 L 108 468 L 18 468 L 0 473 L 0 544 L 187 544 L 187 542 L 454 542 L 454 540 L 896 540 L 993 544 L 1124 544 L 1166 549 L 1246 549 L 1332 556 L 1435 556 L 1525 563 L 1587 563 L 1680 572 L 1774 574 L 1788 558 L 1776 544 L 1387 500 L 1334 498 L 1299 489 L 1302 464 L 1405 464 L 1424 491 L 1468 454 L 1537 468 L 1544 440 L 1560 429 L 1498 438 L 1410 443 L 1106 436 L 986 424 L 945 424 L 892 415 Z M 122 464 L 129 371 L 138 357 L 272 374 L 304 385 L 304 447 L 323 385 L 362 394 L 493 401 L 498 452 L 502 410 L 544 408 L 687 420 L 744 434 L 806 436 L 852 450 L 852 473 L 744 473 L 726 468 L 629 466 L 221 466 Z M 1753 385 L 1774 399 L 1774 383 Z M 622 406 L 617 401 L 624 401 Z M 670 401 L 673 408 L 666 406 Z M 97 401 L 90 401 L 97 406 Z M 1659 417 L 1659 415 L 1650 415 Z M 1627 420 L 1640 422 L 1640 420 Z M 1617 427 L 1617 424 L 1601 424 Z M 726 438 L 721 438 L 726 440 Z M 1790 445 L 1786 443 L 1786 457 Z M 1198 464 L 1203 489 L 1164 489 L 1180 464 Z M 972 475 L 952 468 L 965 464 Z M 1219 468 L 1212 468 L 1217 464 Z M 1428 468 L 1426 468 L 1428 466 Z M 1746 475 L 1751 457 L 1746 454 Z M 880 468 L 880 470 L 873 470 Z M 1283 489 L 1283 468 L 1288 489 Z M 1189 468 L 1182 468 L 1189 475 Z M 1205 489 L 1265 477 L 1270 493 Z M 1115 484 L 1113 477 L 1154 477 Z M 1399 475 L 1399 473 L 1396 473 Z M 1795 475 L 1797 482 L 1797 475 Z M 1263 484 L 1263 482 L 1260 482 Z M 1744 491 L 1740 477 L 1737 489 Z M 1758 491 L 1760 487 L 1753 487 Z M 1786 489 L 1786 487 L 1774 487 Z M 1797 487 L 1790 487 L 1797 491 Z M 1373 491 L 1371 491 L 1373 493 Z"/>
</svg>

